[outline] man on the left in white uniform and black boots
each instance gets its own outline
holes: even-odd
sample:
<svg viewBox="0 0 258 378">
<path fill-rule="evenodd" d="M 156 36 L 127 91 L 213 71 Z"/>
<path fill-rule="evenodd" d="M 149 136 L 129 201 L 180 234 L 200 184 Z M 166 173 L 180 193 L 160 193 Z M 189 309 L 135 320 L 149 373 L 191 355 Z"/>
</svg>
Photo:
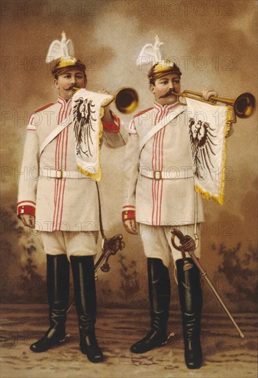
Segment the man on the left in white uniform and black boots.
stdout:
<svg viewBox="0 0 258 378">
<path fill-rule="evenodd" d="M 99 106 L 97 114 L 93 100 L 85 100 L 80 102 L 80 107 L 72 109 L 71 95 L 75 87 L 85 91 L 85 70 L 84 63 L 73 56 L 58 58 L 52 69 L 58 100 L 56 104 L 48 104 L 36 111 L 27 126 L 21 170 L 36 170 L 38 175 L 29 175 L 27 179 L 21 177 L 18 216 L 24 225 L 40 232 L 47 254 L 49 329 L 30 349 L 36 353 L 45 352 L 65 340 L 70 261 L 80 350 L 91 362 L 102 362 L 103 354 L 95 337 L 93 263 L 101 227 L 95 183 L 100 176 L 98 173 L 95 178 L 82 168 L 78 171 L 78 157 L 82 163 L 94 154 L 99 159 L 99 151 L 96 153 L 95 150 L 103 141 L 110 147 L 124 146 L 125 142 L 120 133 L 119 118 L 108 106 Z M 102 93 L 91 93 L 100 98 L 100 105 L 110 102 L 111 97 L 106 91 Z M 91 111 L 91 106 L 95 110 Z M 76 122 L 71 121 L 74 117 L 77 117 Z M 86 126 L 91 126 L 90 131 L 89 127 L 84 127 L 85 122 L 88 122 Z M 78 132 L 75 133 L 75 129 Z"/>
</svg>

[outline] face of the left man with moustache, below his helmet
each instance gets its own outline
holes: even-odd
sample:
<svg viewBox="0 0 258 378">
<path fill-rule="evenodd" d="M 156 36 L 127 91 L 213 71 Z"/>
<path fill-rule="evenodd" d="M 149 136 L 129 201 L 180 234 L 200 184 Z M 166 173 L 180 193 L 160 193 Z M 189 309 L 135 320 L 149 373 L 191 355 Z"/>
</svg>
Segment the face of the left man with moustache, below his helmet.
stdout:
<svg viewBox="0 0 258 378">
<path fill-rule="evenodd" d="M 69 69 L 64 74 L 58 75 L 57 79 L 54 79 L 54 85 L 58 89 L 59 96 L 69 100 L 74 92 L 73 87 L 86 87 L 84 72 L 80 69 Z"/>
</svg>

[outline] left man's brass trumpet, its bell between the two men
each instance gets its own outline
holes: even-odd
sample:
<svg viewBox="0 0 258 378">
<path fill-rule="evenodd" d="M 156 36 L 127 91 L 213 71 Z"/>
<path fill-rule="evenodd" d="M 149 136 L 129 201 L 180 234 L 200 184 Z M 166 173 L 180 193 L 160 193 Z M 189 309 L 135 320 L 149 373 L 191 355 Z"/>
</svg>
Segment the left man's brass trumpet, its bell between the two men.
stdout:
<svg viewBox="0 0 258 378">
<path fill-rule="evenodd" d="M 79 91 L 81 88 L 73 87 L 73 93 L 71 93 L 71 97 Z M 139 94 L 137 91 L 131 87 L 122 87 L 113 96 L 113 100 L 110 102 L 115 101 L 115 106 L 120 111 L 120 113 L 130 114 L 133 113 L 137 107 L 139 107 Z"/>
</svg>

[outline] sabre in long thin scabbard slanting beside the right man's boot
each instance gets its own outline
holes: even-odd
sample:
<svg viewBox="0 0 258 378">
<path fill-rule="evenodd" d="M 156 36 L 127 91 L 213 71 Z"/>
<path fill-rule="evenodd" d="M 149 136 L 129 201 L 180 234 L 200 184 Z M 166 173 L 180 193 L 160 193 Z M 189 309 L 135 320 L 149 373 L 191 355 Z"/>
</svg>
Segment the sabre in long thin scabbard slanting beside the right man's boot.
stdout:
<svg viewBox="0 0 258 378">
<path fill-rule="evenodd" d="M 203 269 L 203 267 L 200 264 L 198 258 L 194 254 L 194 250 L 196 249 L 196 243 L 193 241 L 193 238 L 191 238 L 191 236 L 189 236 L 189 235 L 184 235 L 182 232 L 180 232 L 180 230 L 177 230 L 176 228 L 173 228 L 171 233 L 172 233 L 172 238 L 171 238 L 172 239 L 172 245 L 174 246 L 174 248 L 176 248 L 176 249 L 178 249 L 178 251 L 182 252 L 183 258 L 185 258 L 185 252 L 189 253 L 189 255 L 191 256 L 193 262 L 196 264 L 196 267 L 198 267 L 198 269 L 200 270 L 200 272 L 202 274 L 202 277 L 204 278 L 204 280 L 206 280 L 206 282 L 209 285 L 211 291 L 213 292 L 213 294 L 215 295 L 215 297 L 220 302 L 220 305 L 222 306 L 222 308 L 224 309 L 224 311 L 226 311 L 226 314 L 228 315 L 228 318 L 231 320 L 231 322 L 235 326 L 235 329 L 237 329 L 237 331 L 239 333 L 239 336 L 242 339 L 244 339 L 244 333 L 242 333 L 241 329 L 239 329 L 239 326 L 237 325 L 237 322 L 235 322 L 235 319 L 233 318 L 233 316 L 229 312 L 228 308 L 226 307 L 226 304 L 224 303 L 224 301 L 220 297 L 218 291 L 213 286 L 213 283 L 211 282 L 211 280 L 207 276 L 207 272 Z M 175 236 L 178 237 L 181 245 L 176 245 L 176 242 L 174 240 Z"/>
</svg>

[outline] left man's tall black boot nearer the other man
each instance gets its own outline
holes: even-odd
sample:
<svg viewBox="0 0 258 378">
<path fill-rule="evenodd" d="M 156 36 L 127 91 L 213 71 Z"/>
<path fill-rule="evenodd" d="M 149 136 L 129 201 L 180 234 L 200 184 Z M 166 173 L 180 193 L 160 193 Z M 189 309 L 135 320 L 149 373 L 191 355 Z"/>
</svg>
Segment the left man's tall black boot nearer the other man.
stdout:
<svg viewBox="0 0 258 378">
<path fill-rule="evenodd" d="M 91 362 L 102 362 L 95 336 L 96 289 L 93 256 L 71 256 L 76 311 L 79 319 L 80 350 Z"/>
</svg>

